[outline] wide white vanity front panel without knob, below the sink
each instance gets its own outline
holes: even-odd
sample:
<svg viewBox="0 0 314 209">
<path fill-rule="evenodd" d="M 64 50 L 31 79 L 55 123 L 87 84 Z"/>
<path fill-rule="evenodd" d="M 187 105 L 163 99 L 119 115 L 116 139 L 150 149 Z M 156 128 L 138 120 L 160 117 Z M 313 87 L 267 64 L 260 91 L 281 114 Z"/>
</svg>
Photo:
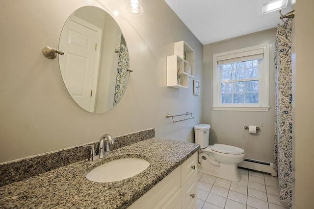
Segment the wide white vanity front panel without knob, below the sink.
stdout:
<svg viewBox="0 0 314 209">
<path fill-rule="evenodd" d="M 129 209 L 161 209 L 181 187 L 181 166 L 136 200 Z"/>
</svg>

